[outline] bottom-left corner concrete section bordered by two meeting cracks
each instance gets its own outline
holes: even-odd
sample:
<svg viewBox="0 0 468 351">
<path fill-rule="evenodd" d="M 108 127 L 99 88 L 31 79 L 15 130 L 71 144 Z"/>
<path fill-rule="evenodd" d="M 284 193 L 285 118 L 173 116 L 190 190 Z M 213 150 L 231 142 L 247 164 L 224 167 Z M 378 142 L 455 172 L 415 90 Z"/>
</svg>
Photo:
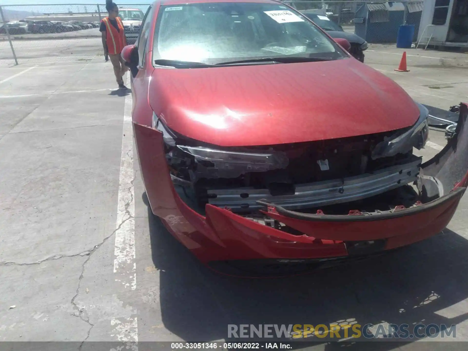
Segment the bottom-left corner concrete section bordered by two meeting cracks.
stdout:
<svg viewBox="0 0 468 351">
<path fill-rule="evenodd" d="M 70 297 L 84 261 L 75 256 L 2 267 L 1 306 L 16 307 L 0 313 L 0 341 L 83 340 L 88 326 L 73 316 Z M 20 281 L 28 281 L 27 288 Z"/>
</svg>

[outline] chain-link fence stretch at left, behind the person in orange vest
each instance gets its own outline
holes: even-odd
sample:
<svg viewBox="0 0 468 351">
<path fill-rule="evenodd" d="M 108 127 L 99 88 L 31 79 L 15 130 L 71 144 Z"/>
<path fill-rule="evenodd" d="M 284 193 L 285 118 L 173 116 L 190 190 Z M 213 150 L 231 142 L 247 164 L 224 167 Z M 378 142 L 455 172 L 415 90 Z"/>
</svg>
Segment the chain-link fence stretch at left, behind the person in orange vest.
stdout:
<svg viewBox="0 0 468 351">
<path fill-rule="evenodd" d="M 118 6 L 121 16 L 141 20 L 150 3 Z M 0 66 L 87 62 L 103 54 L 99 26 L 108 15 L 104 3 L 0 5 L 0 15 Z"/>
</svg>

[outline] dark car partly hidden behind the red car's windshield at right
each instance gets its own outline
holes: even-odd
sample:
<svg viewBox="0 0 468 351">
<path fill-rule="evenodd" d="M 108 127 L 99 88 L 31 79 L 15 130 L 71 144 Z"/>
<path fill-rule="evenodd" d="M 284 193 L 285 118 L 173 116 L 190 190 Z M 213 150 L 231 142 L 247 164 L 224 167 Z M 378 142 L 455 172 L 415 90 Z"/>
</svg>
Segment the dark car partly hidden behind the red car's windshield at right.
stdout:
<svg viewBox="0 0 468 351">
<path fill-rule="evenodd" d="M 350 53 L 354 58 L 361 62 L 364 62 L 364 51 L 367 50 L 367 42 L 363 38 L 357 36 L 354 33 L 345 32 L 341 26 L 331 21 L 325 15 L 317 15 L 314 13 L 307 13 L 307 10 L 301 11 L 301 13 L 318 25 L 320 28 L 325 30 L 332 38 L 346 39 L 351 44 Z"/>
</svg>

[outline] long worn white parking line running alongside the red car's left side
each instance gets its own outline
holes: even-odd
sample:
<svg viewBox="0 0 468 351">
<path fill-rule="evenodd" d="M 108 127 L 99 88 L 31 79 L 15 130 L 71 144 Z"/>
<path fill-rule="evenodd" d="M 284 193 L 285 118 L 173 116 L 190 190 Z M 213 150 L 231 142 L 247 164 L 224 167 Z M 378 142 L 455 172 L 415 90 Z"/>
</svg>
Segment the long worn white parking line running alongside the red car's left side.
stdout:
<svg viewBox="0 0 468 351">
<path fill-rule="evenodd" d="M 130 74 L 127 85 L 130 84 Z M 137 287 L 135 255 L 135 202 L 133 189 L 133 130 L 132 95 L 125 96 L 124 126 L 122 130 L 122 154 L 117 203 L 117 230 L 114 248 L 114 276 L 123 289 L 135 290 Z M 136 314 L 136 312 L 135 312 Z M 113 318 L 111 336 L 119 341 L 138 342 L 137 316 Z"/>
</svg>

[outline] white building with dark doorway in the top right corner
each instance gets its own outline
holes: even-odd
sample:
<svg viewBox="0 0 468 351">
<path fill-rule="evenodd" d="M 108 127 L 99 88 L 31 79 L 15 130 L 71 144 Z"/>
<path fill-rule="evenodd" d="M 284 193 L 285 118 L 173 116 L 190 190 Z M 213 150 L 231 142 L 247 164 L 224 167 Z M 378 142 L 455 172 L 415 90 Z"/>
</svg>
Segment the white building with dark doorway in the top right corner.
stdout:
<svg viewBox="0 0 468 351">
<path fill-rule="evenodd" d="M 418 40 L 424 29 L 430 45 L 468 47 L 468 0 L 424 0 Z"/>
</svg>

